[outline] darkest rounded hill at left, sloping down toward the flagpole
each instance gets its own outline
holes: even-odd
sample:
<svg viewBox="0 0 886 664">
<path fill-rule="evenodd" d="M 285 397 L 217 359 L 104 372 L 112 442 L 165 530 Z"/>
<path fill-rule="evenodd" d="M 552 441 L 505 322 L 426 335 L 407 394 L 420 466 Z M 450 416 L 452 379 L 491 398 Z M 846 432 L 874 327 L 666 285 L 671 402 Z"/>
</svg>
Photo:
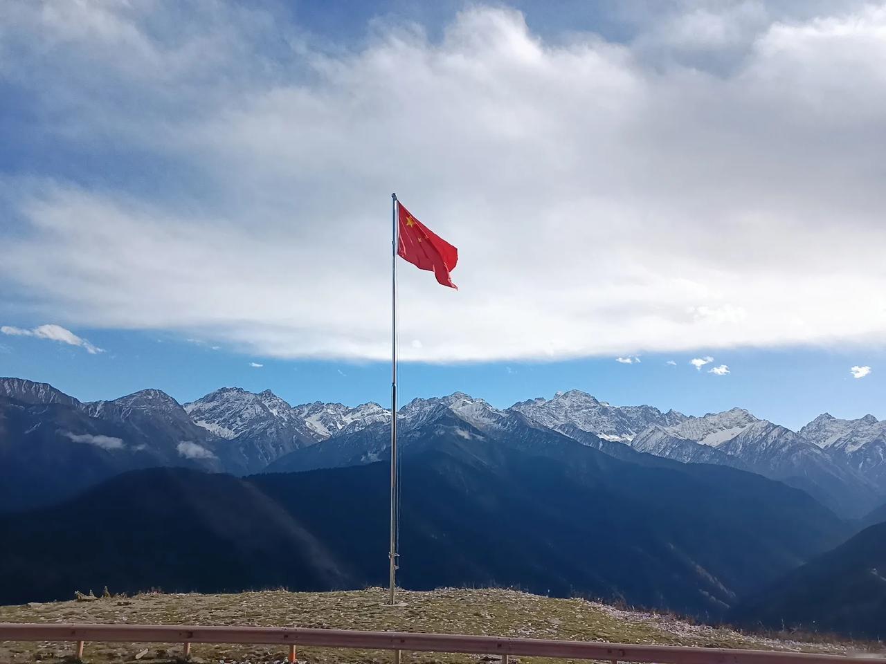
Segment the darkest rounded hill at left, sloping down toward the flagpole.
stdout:
<svg viewBox="0 0 886 664">
<path fill-rule="evenodd" d="M 0 603 L 134 592 L 352 587 L 296 516 L 231 475 L 152 468 L 49 509 L 0 515 Z"/>
</svg>

